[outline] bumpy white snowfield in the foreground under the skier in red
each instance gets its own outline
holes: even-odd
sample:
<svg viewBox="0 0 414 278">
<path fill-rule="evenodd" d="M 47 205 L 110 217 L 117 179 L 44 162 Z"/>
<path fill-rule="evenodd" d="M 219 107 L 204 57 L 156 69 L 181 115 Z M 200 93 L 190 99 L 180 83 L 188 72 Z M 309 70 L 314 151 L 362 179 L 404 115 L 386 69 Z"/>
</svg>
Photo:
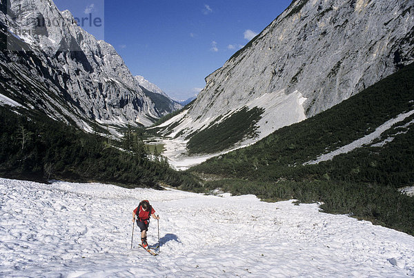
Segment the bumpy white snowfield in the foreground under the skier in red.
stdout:
<svg viewBox="0 0 414 278">
<path fill-rule="evenodd" d="M 414 237 L 317 204 L 10 179 L 0 190 L 0 277 L 414 276 Z M 130 248 L 141 199 L 161 217 L 157 257 L 137 228 Z"/>
</svg>

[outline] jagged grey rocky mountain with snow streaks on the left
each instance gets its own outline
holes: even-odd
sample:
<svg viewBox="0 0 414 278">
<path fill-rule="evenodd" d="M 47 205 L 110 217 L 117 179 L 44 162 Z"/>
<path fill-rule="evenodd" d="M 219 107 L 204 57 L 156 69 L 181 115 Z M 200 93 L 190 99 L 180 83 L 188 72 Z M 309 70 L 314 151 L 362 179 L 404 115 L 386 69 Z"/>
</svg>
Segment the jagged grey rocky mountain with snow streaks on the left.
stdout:
<svg viewBox="0 0 414 278">
<path fill-rule="evenodd" d="M 92 130 L 149 126 L 177 109 L 142 90 L 109 43 L 80 28 L 51 0 L 1 0 L 0 94 L 8 103 Z"/>
</svg>

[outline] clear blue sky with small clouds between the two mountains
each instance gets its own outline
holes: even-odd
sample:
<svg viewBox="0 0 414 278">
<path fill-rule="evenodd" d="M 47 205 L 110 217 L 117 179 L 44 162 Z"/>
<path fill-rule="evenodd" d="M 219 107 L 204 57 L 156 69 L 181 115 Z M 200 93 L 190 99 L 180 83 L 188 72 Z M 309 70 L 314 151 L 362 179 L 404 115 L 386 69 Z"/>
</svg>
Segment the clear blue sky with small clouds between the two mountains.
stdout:
<svg viewBox="0 0 414 278">
<path fill-rule="evenodd" d="M 79 18 L 88 13 L 92 20 L 103 17 L 104 10 L 102 26 L 88 32 L 112 44 L 132 75 L 144 76 L 175 99 L 187 99 L 204 88 L 204 78 L 223 66 L 290 2 L 55 0 L 59 10 L 69 9 Z M 90 27 L 88 20 L 85 29 Z"/>
</svg>

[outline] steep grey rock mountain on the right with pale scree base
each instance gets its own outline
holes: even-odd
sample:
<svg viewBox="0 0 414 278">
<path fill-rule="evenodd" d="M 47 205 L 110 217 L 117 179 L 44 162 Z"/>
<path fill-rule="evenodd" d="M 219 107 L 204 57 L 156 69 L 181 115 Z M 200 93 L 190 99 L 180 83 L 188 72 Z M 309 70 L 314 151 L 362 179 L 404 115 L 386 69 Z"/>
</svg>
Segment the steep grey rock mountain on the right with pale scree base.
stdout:
<svg viewBox="0 0 414 278">
<path fill-rule="evenodd" d="M 206 77 L 193 106 L 164 123 L 159 134 L 180 141 L 181 152 L 195 144 L 227 141 L 223 150 L 252 143 L 335 106 L 413 60 L 414 0 L 295 0 Z M 237 137 L 214 136 L 229 128 Z M 195 148 L 213 151 L 219 152 Z"/>
</svg>

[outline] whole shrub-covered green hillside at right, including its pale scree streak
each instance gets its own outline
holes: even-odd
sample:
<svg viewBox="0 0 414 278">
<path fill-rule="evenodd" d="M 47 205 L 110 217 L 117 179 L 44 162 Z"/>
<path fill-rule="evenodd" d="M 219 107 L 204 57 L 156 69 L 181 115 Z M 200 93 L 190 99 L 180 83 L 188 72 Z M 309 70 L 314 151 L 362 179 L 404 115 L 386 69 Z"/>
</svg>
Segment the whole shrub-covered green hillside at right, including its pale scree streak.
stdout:
<svg viewBox="0 0 414 278">
<path fill-rule="evenodd" d="M 411 63 L 314 117 L 187 172 L 213 193 L 319 202 L 325 212 L 414 235 L 413 141 Z"/>
</svg>

